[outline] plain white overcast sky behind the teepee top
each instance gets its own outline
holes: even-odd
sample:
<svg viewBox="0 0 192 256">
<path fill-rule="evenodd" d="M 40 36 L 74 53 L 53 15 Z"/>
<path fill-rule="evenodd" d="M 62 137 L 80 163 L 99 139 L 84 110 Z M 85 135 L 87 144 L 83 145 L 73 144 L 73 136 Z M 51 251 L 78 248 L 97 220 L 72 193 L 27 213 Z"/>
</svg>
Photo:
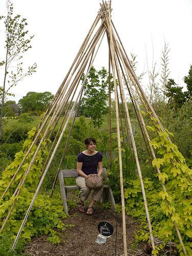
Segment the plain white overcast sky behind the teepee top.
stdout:
<svg viewBox="0 0 192 256">
<path fill-rule="evenodd" d="M 26 68 L 37 63 L 37 72 L 12 90 L 16 102 L 29 91 L 56 93 L 67 74 L 84 37 L 100 8 L 99 0 L 13 0 L 15 14 L 27 18 L 32 49 L 24 56 Z M 169 78 L 184 86 L 183 77 L 192 65 L 191 0 L 112 0 L 112 19 L 128 54 L 137 55 L 138 71 L 152 69 L 152 58 L 160 72 L 161 51 L 168 42 Z M 0 0 L 0 15 L 6 14 L 6 0 Z M 3 22 L 0 24 L 0 60 L 3 52 Z M 153 45 L 152 45 L 153 41 Z M 146 50 L 145 50 L 146 48 Z M 154 50 L 153 50 L 154 48 Z M 108 68 L 108 48 L 101 46 L 94 63 Z M 143 86 L 148 83 L 148 75 Z M 3 82 L 3 70 L 0 72 Z"/>
</svg>

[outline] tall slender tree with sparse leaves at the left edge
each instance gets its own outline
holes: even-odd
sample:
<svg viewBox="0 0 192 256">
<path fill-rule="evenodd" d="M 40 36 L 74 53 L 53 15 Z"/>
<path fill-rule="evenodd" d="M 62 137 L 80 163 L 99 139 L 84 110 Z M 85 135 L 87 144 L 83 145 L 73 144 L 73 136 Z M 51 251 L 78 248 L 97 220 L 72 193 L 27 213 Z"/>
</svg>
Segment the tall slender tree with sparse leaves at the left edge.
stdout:
<svg viewBox="0 0 192 256">
<path fill-rule="evenodd" d="M 3 132 L 3 116 L 5 98 L 10 93 L 10 89 L 28 75 L 36 72 L 36 63 L 28 67 L 27 71 L 23 70 L 23 54 L 31 48 L 30 42 L 33 36 L 27 37 L 28 30 L 26 26 L 26 18 L 20 15 L 13 16 L 13 4 L 7 1 L 7 16 L 0 16 L 0 20 L 4 20 L 6 39 L 5 39 L 5 60 L 0 60 L 0 66 L 5 67 L 3 86 L 0 86 L 0 103 L 1 103 L 1 120 L 0 120 L 0 140 Z M 14 67 L 11 67 L 14 63 Z"/>
</svg>

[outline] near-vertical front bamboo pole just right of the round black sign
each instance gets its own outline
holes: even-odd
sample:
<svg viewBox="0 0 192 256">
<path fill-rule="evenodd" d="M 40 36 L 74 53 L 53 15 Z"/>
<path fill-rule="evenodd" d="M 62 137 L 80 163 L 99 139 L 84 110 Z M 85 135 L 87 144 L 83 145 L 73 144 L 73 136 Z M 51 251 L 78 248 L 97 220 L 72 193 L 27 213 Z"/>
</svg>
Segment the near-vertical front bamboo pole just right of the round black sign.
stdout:
<svg viewBox="0 0 192 256">
<path fill-rule="evenodd" d="M 113 80 L 114 80 L 114 90 L 115 90 L 115 108 L 116 108 L 116 119 L 117 119 L 117 138 L 118 138 L 118 151 L 119 151 L 119 173 L 120 173 L 120 185 L 121 185 L 121 201 L 122 201 L 122 220 L 123 220 L 123 246 L 124 255 L 127 255 L 126 247 L 126 222 L 125 222 L 125 205 L 124 205 L 124 189 L 123 189 L 123 175 L 122 175 L 122 158 L 121 158 L 121 141 L 120 141 L 120 130 L 119 130 L 119 113 L 118 113 L 118 103 L 117 103 L 117 85 L 116 85 L 116 75 L 115 75 L 115 59 L 114 59 L 114 46 L 112 37 L 112 26 L 111 26 L 111 13 L 108 10 L 109 17 L 109 31 L 110 31 L 110 45 L 111 45 L 111 55 L 112 55 L 112 70 L 113 70 Z"/>
</svg>

